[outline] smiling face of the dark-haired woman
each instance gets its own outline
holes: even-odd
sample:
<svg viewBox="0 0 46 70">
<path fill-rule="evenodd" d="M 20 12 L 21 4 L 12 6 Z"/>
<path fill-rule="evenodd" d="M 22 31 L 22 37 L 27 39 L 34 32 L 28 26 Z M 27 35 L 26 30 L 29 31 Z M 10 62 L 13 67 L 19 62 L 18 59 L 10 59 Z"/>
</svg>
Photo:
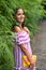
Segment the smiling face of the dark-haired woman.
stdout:
<svg viewBox="0 0 46 70">
<path fill-rule="evenodd" d="M 24 23 L 25 20 L 25 13 L 24 13 L 24 10 L 22 9 L 18 9 L 17 10 L 17 13 L 16 13 L 16 19 L 19 22 L 19 23 Z"/>
</svg>

